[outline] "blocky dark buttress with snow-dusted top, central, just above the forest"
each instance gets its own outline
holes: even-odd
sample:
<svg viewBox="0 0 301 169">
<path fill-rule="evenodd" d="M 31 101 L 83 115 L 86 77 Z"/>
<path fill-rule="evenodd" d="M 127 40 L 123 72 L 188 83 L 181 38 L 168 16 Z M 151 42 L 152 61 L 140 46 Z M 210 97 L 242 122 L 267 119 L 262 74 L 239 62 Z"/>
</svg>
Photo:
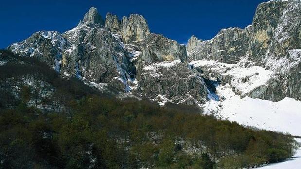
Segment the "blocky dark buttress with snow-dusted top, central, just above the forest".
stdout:
<svg viewBox="0 0 301 169">
<path fill-rule="evenodd" d="M 139 80 L 142 97 L 154 99 L 162 95 L 174 103 L 204 103 L 207 91 L 202 78 L 196 76 L 185 63 L 165 61 L 142 69 Z"/>
</svg>

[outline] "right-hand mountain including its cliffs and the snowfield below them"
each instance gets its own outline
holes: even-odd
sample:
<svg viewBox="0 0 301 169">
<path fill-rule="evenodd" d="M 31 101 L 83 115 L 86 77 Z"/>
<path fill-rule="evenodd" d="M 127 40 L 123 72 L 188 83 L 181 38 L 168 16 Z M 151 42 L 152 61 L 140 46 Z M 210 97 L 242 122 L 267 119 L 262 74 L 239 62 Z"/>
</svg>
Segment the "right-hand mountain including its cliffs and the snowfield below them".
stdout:
<svg viewBox="0 0 301 169">
<path fill-rule="evenodd" d="M 252 25 L 222 29 L 211 40 L 192 36 L 188 62 L 211 79 L 220 101 L 206 113 L 246 126 L 301 135 L 301 1 L 261 3 Z"/>
</svg>

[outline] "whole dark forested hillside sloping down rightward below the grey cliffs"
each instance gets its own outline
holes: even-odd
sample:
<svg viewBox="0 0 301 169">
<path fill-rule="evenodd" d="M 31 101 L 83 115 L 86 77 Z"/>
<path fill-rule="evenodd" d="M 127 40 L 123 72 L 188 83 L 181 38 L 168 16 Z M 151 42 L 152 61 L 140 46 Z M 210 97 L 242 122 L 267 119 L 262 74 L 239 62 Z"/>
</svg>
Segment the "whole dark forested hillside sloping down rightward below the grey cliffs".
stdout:
<svg viewBox="0 0 301 169">
<path fill-rule="evenodd" d="M 194 106 L 117 99 L 47 64 L 0 51 L 0 168 L 249 168 L 282 161 L 290 135 Z"/>
</svg>

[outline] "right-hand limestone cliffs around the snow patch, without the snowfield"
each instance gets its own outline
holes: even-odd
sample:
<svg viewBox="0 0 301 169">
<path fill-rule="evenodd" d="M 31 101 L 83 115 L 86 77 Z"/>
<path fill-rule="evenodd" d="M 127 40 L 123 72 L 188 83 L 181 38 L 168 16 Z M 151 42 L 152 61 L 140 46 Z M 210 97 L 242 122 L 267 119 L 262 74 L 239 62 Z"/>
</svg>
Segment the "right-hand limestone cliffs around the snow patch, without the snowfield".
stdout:
<svg viewBox="0 0 301 169">
<path fill-rule="evenodd" d="M 301 100 L 300 29 L 301 1 L 271 0 L 257 7 L 252 25 L 245 29 L 222 29 L 207 41 L 194 36 L 190 38 L 188 60 L 217 60 L 247 68 L 264 67 L 273 71 L 266 85 L 243 96 L 272 101 L 288 96 Z M 213 75 L 221 74 L 215 70 Z M 227 79 L 226 83 L 232 79 L 231 76 L 220 78 Z"/>
</svg>

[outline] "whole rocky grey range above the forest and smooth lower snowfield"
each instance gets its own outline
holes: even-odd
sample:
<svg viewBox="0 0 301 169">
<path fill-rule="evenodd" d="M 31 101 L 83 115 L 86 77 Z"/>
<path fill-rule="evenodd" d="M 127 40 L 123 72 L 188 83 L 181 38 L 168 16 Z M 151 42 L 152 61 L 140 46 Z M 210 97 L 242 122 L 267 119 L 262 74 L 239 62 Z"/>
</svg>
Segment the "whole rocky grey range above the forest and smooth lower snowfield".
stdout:
<svg viewBox="0 0 301 169">
<path fill-rule="evenodd" d="M 211 40 L 192 36 L 184 46 L 151 33 L 141 15 L 104 20 L 92 7 L 77 27 L 40 31 L 8 49 L 102 91 L 220 112 L 234 96 L 301 101 L 300 11 L 300 0 L 264 2 L 252 25 L 222 29 Z"/>
</svg>

